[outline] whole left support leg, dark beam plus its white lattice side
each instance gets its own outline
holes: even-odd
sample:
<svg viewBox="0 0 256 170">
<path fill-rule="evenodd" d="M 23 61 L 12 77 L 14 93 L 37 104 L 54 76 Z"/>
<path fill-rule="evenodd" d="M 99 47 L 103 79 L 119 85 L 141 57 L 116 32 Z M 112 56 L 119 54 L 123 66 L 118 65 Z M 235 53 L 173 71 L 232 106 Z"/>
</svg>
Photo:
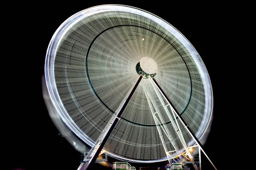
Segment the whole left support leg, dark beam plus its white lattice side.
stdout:
<svg viewBox="0 0 256 170">
<path fill-rule="evenodd" d="M 97 142 L 95 144 L 94 147 L 92 147 L 92 149 L 90 150 L 90 155 L 91 159 L 90 161 L 86 162 L 83 165 L 79 166 L 79 170 L 90 170 L 91 167 L 93 166 L 94 162 L 96 161 L 96 159 L 99 156 L 99 153 L 101 152 L 102 148 L 104 147 L 105 143 L 108 140 L 108 137 L 111 135 L 114 127 L 116 126 L 117 122 L 119 121 L 123 111 L 125 110 L 125 107 L 127 106 L 128 102 L 131 99 L 131 96 L 134 94 L 134 91 L 136 90 L 137 86 L 140 83 L 140 80 L 142 79 L 142 75 L 140 75 L 140 78 L 138 79 L 138 81 L 136 82 L 136 84 L 134 85 L 134 88 L 131 90 L 131 93 L 129 94 L 129 96 L 127 97 L 127 99 L 125 100 L 125 102 L 123 103 L 123 105 L 120 107 L 115 119 L 113 119 L 112 124 L 108 127 L 108 129 L 103 133 L 103 135 L 101 137 L 99 137 L 100 139 L 98 140 L 99 142 Z"/>
</svg>

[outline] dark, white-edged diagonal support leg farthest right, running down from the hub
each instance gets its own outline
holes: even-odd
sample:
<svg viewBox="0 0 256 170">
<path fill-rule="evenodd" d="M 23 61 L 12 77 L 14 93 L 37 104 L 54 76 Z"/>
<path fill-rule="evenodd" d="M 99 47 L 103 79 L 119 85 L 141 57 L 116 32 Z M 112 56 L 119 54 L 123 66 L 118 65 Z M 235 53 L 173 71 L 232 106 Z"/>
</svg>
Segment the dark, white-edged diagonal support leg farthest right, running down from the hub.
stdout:
<svg viewBox="0 0 256 170">
<path fill-rule="evenodd" d="M 158 90 L 161 92 L 161 94 L 163 95 L 163 97 L 166 99 L 166 101 L 168 102 L 170 108 L 172 109 L 172 111 L 179 117 L 180 121 L 182 122 L 183 126 L 186 128 L 186 130 L 188 130 L 189 134 L 192 136 L 192 138 L 195 140 L 195 142 L 198 144 L 198 148 L 199 148 L 199 153 L 200 150 L 202 150 L 202 152 L 204 153 L 204 155 L 207 157 L 207 159 L 210 161 L 210 163 L 212 164 L 212 166 L 215 168 L 215 170 L 217 170 L 217 168 L 214 166 L 214 164 L 212 163 L 212 161 L 209 159 L 209 157 L 207 156 L 207 154 L 204 152 L 203 150 L 203 145 L 201 144 L 201 142 L 199 142 L 199 140 L 197 139 L 197 137 L 195 136 L 195 134 L 192 132 L 192 130 L 190 129 L 189 125 L 186 124 L 186 122 L 184 121 L 184 119 L 180 116 L 179 112 L 177 111 L 177 109 L 174 107 L 174 105 L 172 105 L 172 102 L 169 100 L 169 98 L 166 96 L 166 94 L 163 92 L 163 89 L 160 87 L 160 85 L 158 85 L 157 81 L 155 79 L 153 79 L 153 77 L 151 77 L 151 82 L 154 82 L 154 85 L 157 86 Z"/>
</svg>

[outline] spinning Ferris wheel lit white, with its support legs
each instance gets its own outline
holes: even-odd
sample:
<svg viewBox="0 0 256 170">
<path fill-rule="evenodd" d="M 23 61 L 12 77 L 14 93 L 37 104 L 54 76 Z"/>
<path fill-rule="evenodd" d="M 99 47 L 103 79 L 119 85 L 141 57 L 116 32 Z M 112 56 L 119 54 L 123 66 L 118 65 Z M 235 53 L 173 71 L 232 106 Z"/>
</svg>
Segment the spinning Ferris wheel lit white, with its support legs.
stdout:
<svg viewBox="0 0 256 170">
<path fill-rule="evenodd" d="M 49 43 L 44 77 L 55 125 L 91 147 L 81 169 L 102 149 L 139 163 L 194 160 L 189 148 L 207 156 L 207 69 L 176 28 L 148 11 L 100 5 L 69 17 Z"/>
</svg>

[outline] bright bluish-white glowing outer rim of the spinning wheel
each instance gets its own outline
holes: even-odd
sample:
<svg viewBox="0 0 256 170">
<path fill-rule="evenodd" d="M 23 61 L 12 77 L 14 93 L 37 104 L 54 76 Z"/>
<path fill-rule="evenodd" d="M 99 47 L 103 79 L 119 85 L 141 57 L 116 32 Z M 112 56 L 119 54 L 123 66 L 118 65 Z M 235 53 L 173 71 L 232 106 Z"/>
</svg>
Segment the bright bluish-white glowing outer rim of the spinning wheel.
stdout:
<svg viewBox="0 0 256 170">
<path fill-rule="evenodd" d="M 154 20 L 157 20 L 157 22 L 159 22 L 159 23 L 164 23 L 164 24 L 166 24 L 166 26 L 169 25 L 169 29 L 171 29 L 172 32 L 177 34 L 177 36 L 179 36 L 184 42 L 186 42 L 185 45 L 187 46 L 187 49 L 190 50 L 192 54 L 199 57 L 198 53 L 195 51 L 193 46 L 189 43 L 189 41 L 179 31 L 177 31 L 177 29 L 172 27 L 169 23 L 167 23 L 160 17 L 157 17 L 154 14 L 151 14 L 148 11 L 144 11 L 139 8 L 134 8 L 131 6 L 123 6 L 123 5 L 101 5 L 101 6 L 87 8 L 87 9 L 80 11 L 80 12 L 72 15 L 71 17 L 69 17 L 55 31 L 55 33 L 49 43 L 49 46 L 47 48 L 47 55 L 46 55 L 46 60 L 45 60 L 45 79 L 47 82 L 47 88 L 48 88 L 48 92 L 51 97 L 51 100 L 52 100 L 53 104 L 55 105 L 55 108 L 57 108 L 58 114 L 61 116 L 62 121 L 64 121 L 65 124 L 70 128 L 70 130 L 72 130 L 74 133 L 76 133 L 76 135 L 79 136 L 80 139 L 82 139 L 85 143 L 87 143 L 91 147 L 94 145 L 94 141 L 90 140 L 88 136 L 84 135 L 81 132 L 81 130 L 79 129 L 79 127 L 77 127 L 75 125 L 75 123 L 73 122 L 73 120 L 69 117 L 68 113 L 65 113 L 65 108 L 62 105 L 62 102 L 58 96 L 58 92 L 56 91 L 56 85 L 55 85 L 55 79 L 54 79 L 54 68 L 52 67 L 52 63 L 54 63 L 54 56 L 55 56 L 55 52 L 56 52 L 55 50 L 58 48 L 58 42 L 59 42 L 59 40 L 61 40 L 61 37 L 65 34 L 65 31 L 68 28 L 70 28 L 73 24 L 75 24 L 77 22 L 77 20 L 79 20 L 83 17 L 86 17 L 86 15 L 90 15 L 90 14 L 98 12 L 102 9 L 106 9 L 107 7 L 114 7 L 114 8 L 119 7 L 120 9 L 122 8 L 123 10 L 128 9 L 133 12 L 137 12 L 138 14 L 143 13 L 143 14 L 153 17 Z M 110 9 L 108 9 L 108 10 L 110 10 Z M 201 59 L 201 58 L 199 57 L 199 59 Z M 204 64 L 201 65 L 203 63 L 202 61 L 199 61 L 199 62 L 201 62 L 198 64 L 200 67 L 204 66 Z M 206 69 L 206 68 L 203 68 L 203 69 Z M 207 73 L 207 75 L 208 75 L 208 73 Z M 205 84 L 210 85 L 210 87 L 208 87 L 210 89 L 210 91 L 208 89 L 208 92 L 212 96 L 211 82 L 208 78 L 209 77 L 207 77 L 204 81 L 206 81 Z M 211 97 L 210 100 L 212 101 L 212 106 L 213 106 L 213 96 Z M 212 108 L 211 108 L 211 115 L 212 115 Z M 207 130 L 207 128 L 205 129 L 205 131 L 206 130 Z M 122 156 L 120 157 L 119 155 L 116 155 L 115 153 L 111 153 L 111 152 L 109 154 L 112 157 L 115 157 L 117 159 L 123 159 L 123 160 L 134 161 L 134 162 L 158 162 L 158 161 L 167 160 L 167 158 L 165 158 L 165 159 L 157 159 L 157 160 L 150 160 L 150 161 L 145 161 L 145 160 L 140 161 L 137 159 L 130 159 L 130 158 L 122 157 Z"/>
</svg>

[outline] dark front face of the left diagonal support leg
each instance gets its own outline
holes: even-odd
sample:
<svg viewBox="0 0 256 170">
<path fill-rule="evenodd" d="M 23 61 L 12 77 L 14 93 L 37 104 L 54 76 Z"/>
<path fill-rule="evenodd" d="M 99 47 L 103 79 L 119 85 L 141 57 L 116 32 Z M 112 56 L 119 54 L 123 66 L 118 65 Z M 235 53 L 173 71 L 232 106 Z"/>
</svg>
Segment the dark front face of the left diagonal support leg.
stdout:
<svg viewBox="0 0 256 170">
<path fill-rule="evenodd" d="M 137 86 L 140 83 L 140 80 L 142 79 L 142 75 L 140 75 L 140 78 L 138 79 L 138 81 L 136 82 L 136 84 L 134 85 L 134 88 L 132 89 L 131 93 L 129 94 L 129 96 L 127 97 L 127 99 L 125 100 L 124 104 L 122 105 L 122 107 L 120 108 L 119 112 L 116 115 L 116 119 L 113 121 L 113 124 L 111 125 L 111 127 L 108 129 L 108 132 L 106 133 L 104 139 L 102 140 L 102 142 L 100 142 L 98 149 L 96 150 L 96 153 L 93 155 L 93 157 L 90 159 L 89 162 L 87 162 L 85 164 L 85 167 L 82 167 L 82 170 L 90 170 L 94 164 L 94 162 L 96 161 L 96 159 L 99 156 L 99 153 L 101 152 L 102 148 L 104 147 L 105 143 L 108 140 L 108 137 L 111 135 L 114 127 L 116 126 L 117 122 L 119 121 L 123 111 L 125 110 L 125 107 L 128 105 L 128 102 L 131 99 L 131 96 L 134 94 L 134 91 L 136 90 Z"/>
</svg>

